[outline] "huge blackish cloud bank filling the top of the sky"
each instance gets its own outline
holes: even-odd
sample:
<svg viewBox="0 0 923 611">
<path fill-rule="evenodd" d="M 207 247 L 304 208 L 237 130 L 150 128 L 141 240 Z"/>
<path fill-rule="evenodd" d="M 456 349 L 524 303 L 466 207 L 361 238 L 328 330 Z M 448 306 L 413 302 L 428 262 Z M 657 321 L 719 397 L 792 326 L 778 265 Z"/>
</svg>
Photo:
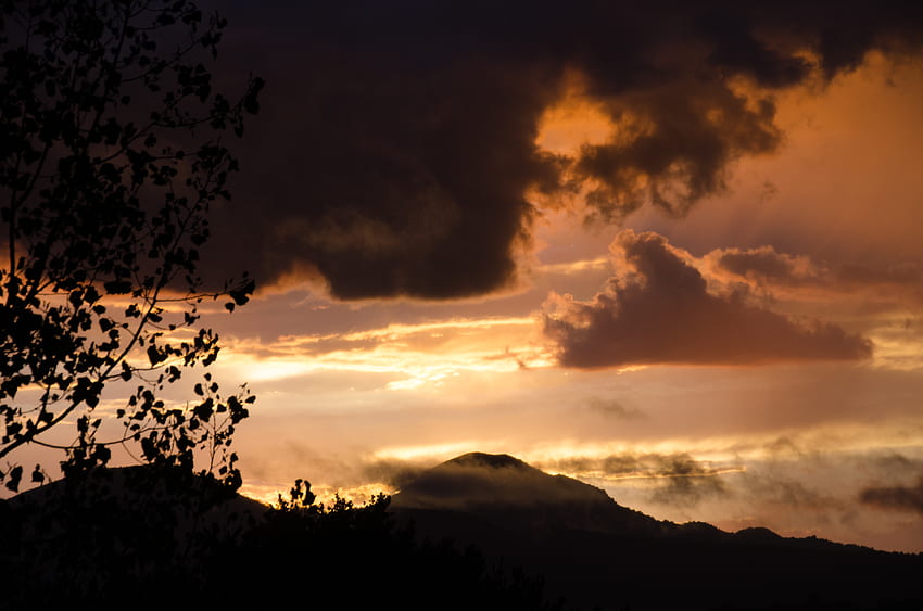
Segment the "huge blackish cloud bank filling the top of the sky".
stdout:
<svg viewBox="0 0 923 611">
<path fill-rule="evenodd" d="M 773 91 L 914 51 L 923 21 L 911 2 L 218 5 L 218 81 L 252 69 L 267 86 L 203 264 L 347 300 L 510 284 L 529 189 L 583 186 L 607 218 L 681 213 L 724 189 L 730 162 L 779 147 Z M 553 156 L 539 123 L 573 73 L 619 130 Z"/>
</svg>

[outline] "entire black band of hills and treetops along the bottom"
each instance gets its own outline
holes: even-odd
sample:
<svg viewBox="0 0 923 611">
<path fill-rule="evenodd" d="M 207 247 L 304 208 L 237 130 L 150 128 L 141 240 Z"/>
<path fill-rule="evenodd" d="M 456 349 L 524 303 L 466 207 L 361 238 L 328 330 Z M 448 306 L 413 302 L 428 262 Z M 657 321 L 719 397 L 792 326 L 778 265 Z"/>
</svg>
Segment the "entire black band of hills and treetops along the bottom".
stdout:
<svg viewBox="0 0 923 611">
<path fill-rule="evenodd" d="M 390 507 L 267 510 L 135 468 L 0 512 L 4 609 L 923 609 L 920 555 L 658 521 L 505 455 L 445 462 Z"/>
</svg>

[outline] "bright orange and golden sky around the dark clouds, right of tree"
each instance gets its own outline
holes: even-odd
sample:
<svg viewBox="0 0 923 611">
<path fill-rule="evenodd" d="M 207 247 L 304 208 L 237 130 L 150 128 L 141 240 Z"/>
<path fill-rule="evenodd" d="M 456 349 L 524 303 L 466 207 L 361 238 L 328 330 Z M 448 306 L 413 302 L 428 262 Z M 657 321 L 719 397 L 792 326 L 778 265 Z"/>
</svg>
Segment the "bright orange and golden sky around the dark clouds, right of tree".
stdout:
<svg viewBox="0 0 923 611">
<path fill-rule="evenodd" d="M 726 192 L 685 217 L 646 207 L 625 220 L 668 240 L 708 294 L 746 288 L 793 324 L 870 340 L 870 358 L 562 368 L 542 332 L 549 294 L 590 304 L 625 266 L 609 250 L 619 227 L 549 211 L 519 284 L 498 296 L 339 303 L 291 289 L 215 318 L 219 372 L 258 396 L 238 437 L 244 489 L 304 476 L 388 491 L 402 470 L 504 451 L 657 518 L 923 549 L 919 513 L 859 501 L 923 468 L 921 76 L 873 55 L 826 88 L 782 93 L 776 153 L 734 163 Z M 546 114 L 540 142 L 560 152 L 610 129 L 577 96 Z M 750 249 L 789 276 L 719 265 Z M 856 266 L 864 276 L 847 273 Z M 889 272 L 900 266 L 915 272 Z"/>
</svg>

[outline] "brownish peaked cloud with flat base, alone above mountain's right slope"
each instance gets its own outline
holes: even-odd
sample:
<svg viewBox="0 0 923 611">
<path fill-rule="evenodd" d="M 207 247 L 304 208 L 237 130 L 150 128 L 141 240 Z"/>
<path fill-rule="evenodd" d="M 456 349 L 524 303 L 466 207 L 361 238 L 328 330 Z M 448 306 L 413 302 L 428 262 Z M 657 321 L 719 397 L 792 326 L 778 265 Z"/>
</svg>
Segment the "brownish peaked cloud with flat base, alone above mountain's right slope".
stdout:
<svg viewBox="0 0 923 611">
<path fill-rule="evenodd" d="M 745 293 L 708 290 L 690 255 L 656 233 L 625 230 L 611 245 L 618 273 L 589 302 L 552 294 L 544 332 L 561 365 L 746 365 L 871 356 L 868 340 L 839 327 L 800 324 Z"/>
</svg>

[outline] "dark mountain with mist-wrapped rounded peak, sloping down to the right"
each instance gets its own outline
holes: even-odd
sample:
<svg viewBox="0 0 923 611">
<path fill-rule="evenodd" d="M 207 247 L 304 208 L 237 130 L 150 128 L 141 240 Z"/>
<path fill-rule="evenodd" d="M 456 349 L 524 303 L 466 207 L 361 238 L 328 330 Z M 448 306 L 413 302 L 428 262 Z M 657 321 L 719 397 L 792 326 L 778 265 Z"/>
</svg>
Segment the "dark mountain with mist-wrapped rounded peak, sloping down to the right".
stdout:
<svg viewBox="0 0 923 611">
<path fill-rule="evenodd" d="M 580 609 L 923 609 L 923 557 L 675 524 L 507 455 L 467 454 L 393 496 L 418 534 L 541 574 Z"/>
</svg>

